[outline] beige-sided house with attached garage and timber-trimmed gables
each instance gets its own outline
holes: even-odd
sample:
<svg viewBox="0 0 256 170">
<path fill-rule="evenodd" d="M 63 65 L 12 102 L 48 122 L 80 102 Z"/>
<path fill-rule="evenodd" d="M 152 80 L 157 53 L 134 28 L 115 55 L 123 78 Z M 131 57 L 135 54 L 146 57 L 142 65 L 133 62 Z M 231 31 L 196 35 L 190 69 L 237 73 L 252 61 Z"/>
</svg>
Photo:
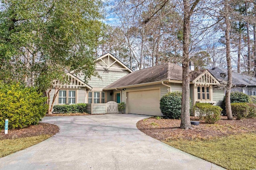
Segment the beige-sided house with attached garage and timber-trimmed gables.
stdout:
<svg viewBox="0 0 256 170">
<path fill-rule="evenodd" d="M 86 84 L 81 73 L 69 72 L 70 84 L 61 88 L 54 104 L 86 103 L 89 113 L 106 113 L 105 103 L 125 102 L 125 113 L 160 116 L 160 98 L 168 92 L 182 92 L 182 66 L 166 63 L 132 72 L 110 53 L 95 62 L 101 78 L 92 77 Z M 193 106 L 196 102 L 222 104 L 220 82 L 208 70 L 190 70 L 190 75 Z"/>
</svg>

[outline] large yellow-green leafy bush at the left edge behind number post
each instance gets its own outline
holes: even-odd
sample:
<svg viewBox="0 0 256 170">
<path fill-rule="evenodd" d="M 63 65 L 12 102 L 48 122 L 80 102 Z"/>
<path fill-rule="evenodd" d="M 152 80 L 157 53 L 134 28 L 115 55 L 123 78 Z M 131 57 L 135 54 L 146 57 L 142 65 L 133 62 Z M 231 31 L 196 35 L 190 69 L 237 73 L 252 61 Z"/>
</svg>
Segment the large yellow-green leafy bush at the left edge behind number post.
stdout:
<svg viewBox="0 0 256 170">
<path fill-rule="evenodd" d="M 0 129 L 4 128 L 5 119 L 9 120 L 10 129 L 38 124 L 47 111 L 46 100 L 35 88 L 0 83 Z"/>
</svg>

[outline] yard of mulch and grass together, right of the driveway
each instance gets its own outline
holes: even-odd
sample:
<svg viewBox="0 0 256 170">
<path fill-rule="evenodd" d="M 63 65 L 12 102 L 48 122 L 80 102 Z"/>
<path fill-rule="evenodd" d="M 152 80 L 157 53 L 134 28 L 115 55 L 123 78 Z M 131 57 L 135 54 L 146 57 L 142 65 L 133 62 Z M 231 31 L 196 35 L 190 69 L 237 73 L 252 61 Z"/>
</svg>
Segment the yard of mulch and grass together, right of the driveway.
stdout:
<svg viewBox="0 0 256 170">
<path fill-rule="evenodd" d="M 197 120 L 191 117 L 191 120 Z M 156 126 L 157 125 L 157 126 Z M 256 119 L 227 120 L 180 129 L 180 120 L 140 120 L 138 129 L 155 139 L 231 170 L 256 169 Z"/>
</svg>

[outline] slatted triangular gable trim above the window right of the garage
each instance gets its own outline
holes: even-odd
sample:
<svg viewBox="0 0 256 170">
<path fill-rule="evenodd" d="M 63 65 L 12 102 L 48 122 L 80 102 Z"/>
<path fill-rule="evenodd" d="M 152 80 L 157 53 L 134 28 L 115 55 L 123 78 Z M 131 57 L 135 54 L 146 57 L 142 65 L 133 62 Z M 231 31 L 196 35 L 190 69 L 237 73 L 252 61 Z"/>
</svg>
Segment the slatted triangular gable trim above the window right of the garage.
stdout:
<svg viewBox="0 0 256 170">
<path fill-rule="evenodd" d="M 211 85 L 219 85 L 220 82 L 207 70 L 205 70 L 202 74 L 200 74 L 193 81 L 193 84 L 211 84 Z"/>
</svg>

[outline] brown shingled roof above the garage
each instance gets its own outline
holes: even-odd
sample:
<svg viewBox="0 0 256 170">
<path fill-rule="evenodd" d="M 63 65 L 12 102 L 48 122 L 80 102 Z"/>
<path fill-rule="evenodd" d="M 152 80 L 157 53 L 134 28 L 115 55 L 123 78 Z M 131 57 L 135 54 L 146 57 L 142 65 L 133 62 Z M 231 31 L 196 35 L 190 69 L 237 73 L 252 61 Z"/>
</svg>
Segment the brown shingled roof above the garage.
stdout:
<svg viewBox="0 0 256 170">
<path fill-rule="evenodd" d="M 199 75 L 198 73 L 195 74 Z M 193 76 L 193 79 L 194 78 L 195 76 Z M 150 82 L 160 82 L 166 80 L 182 81 L 182 66 L 178 66 L 172 63 L 165 63 L 162 65 L 134 71 L 120 78 L 116 82 L 113 82 L 112 84 L 106 86 L 105 88 L 103 88 L 103 90 L 123 88 L 126 86 L 132 86 L 136 84 L 145 84 Z"/>
</svg>

